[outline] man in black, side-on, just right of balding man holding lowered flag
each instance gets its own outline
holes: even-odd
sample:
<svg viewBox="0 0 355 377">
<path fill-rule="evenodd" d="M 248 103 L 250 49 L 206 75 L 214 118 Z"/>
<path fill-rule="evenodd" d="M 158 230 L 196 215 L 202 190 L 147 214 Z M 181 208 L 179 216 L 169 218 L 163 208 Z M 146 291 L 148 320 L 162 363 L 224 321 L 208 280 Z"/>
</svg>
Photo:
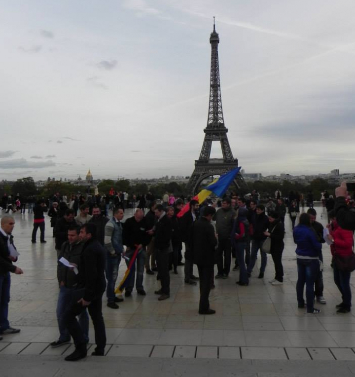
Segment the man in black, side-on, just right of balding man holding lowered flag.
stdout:
<svg viewBox="0 0 355 377">
<path fill-rule="evenodd" d="M 155 216 L 158 221 L 154 229 L 154 248 L 156 252 L 161 289 L 154 293 L 159 295 L 158 300 L 162 301 L 169 299 L 170 297 L 169 254 L 173 252 L 171 247 L 173 226 L 161 204 L 156 205 Z"/>
</svg>

